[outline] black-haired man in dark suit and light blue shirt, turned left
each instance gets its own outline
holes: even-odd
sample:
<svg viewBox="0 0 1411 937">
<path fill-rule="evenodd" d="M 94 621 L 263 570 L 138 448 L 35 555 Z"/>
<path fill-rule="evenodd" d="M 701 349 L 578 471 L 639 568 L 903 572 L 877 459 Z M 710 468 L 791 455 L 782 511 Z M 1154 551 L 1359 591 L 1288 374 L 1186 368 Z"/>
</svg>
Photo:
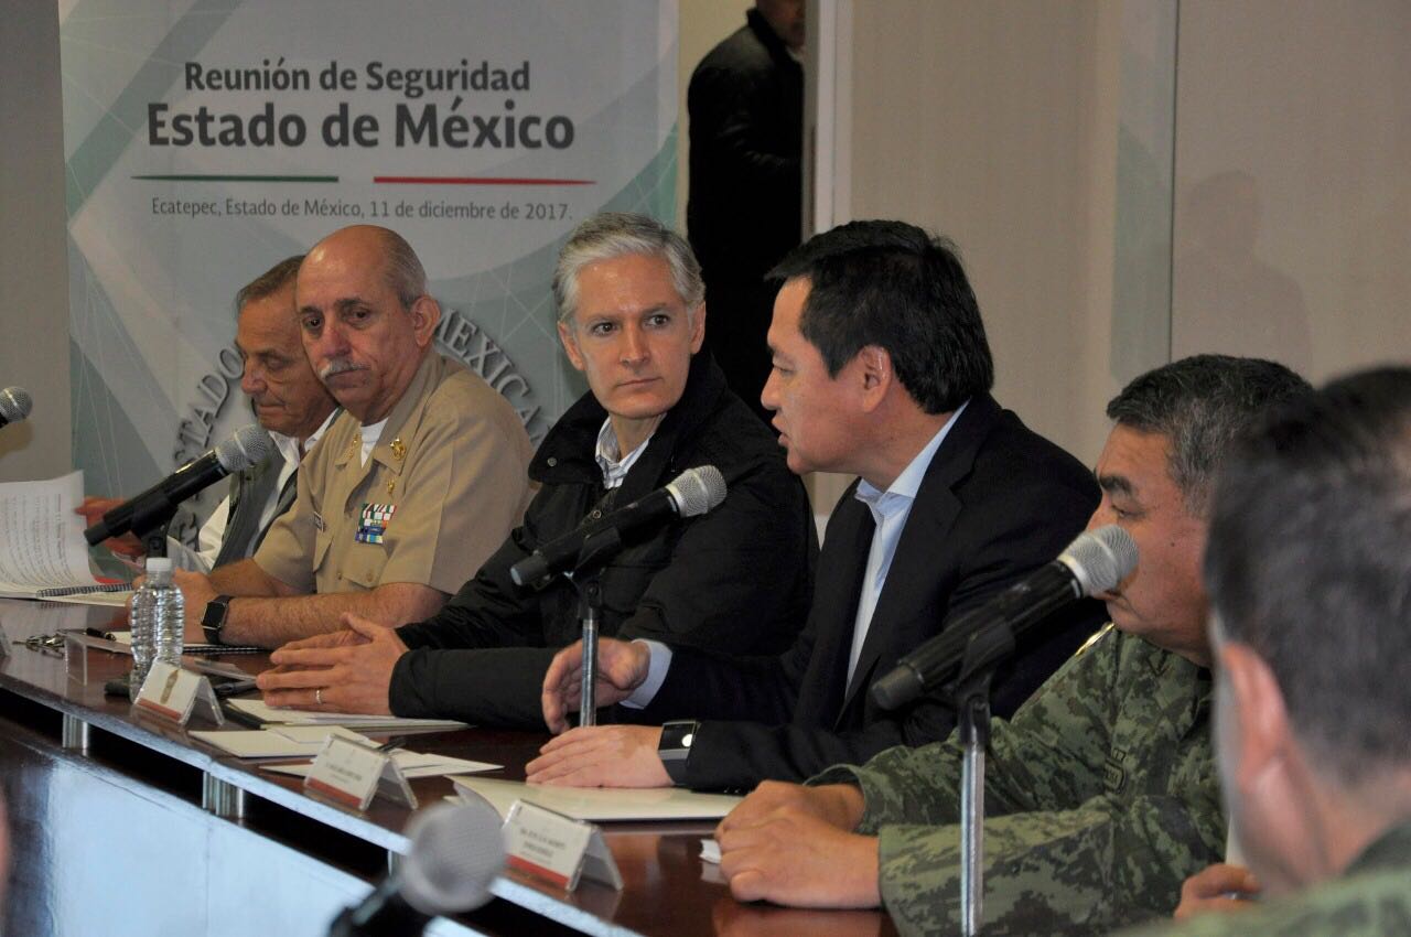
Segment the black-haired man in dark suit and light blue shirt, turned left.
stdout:
<svg viewBox="0 0 1411 937">
<path fill-rule="evenodd" d="M 948 244 L 858 222 L 775 272 L 763 402 L 789 467 L 861 476 L 828 524 L 807 625 L 783 655 L 744 660 L 604 641 L 598 701 L 621 701 L 626 718 L 693 717 L 663 728 L 564 731 L 581 648 L 560 652 L 545 718 L 563 734 L 528 765 L 533 782 L 749 787 L 944 738 L 944 697 L 883 713 L 868 687 L 1057 556 L 1098 504 L 1088 471 L 989 395 L 985 329 Z M 1041 629 L 996 676 L 995 711 L 1013 713 L 1101 618 L 1079 603 Z"/>
</svg>

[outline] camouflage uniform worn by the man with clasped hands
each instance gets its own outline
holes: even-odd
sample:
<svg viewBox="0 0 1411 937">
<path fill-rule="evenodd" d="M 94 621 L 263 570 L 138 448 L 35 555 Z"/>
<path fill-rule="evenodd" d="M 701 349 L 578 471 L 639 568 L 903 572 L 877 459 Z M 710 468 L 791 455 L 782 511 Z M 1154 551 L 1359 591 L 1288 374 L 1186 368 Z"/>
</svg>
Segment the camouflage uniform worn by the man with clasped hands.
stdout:
<svg viewBox="0 0 1411 937">
<path fill-rule="evenodd" d="M 985 778 L 985 934 L 1091 934 L 1168 916 L 1225 850 L 1211 675 L 1110 625 L 995 720 Z M 856 783 L 902 933 L 959 930 L 952 734 L 809 783 Z"/>
</svg>

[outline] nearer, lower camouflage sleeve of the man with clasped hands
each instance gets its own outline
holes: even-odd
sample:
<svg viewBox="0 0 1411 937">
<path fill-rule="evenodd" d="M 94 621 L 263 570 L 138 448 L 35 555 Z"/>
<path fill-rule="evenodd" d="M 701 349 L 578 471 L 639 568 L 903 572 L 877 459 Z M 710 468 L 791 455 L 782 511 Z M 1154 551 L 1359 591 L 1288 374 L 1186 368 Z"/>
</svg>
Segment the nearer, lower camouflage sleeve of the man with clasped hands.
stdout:
<svg viewBox="0 0 1411 937">
<path fill-rule="evenodd" d="M 1181 882 L 1223 848 L 1218 804 L 1175 797 L 985 821 L 985 933 L 1089 934 L 1170 916 Z M 885 826 L 882 903 L 903 934 L 959 930 L 959 827 Z"/>
</svg>

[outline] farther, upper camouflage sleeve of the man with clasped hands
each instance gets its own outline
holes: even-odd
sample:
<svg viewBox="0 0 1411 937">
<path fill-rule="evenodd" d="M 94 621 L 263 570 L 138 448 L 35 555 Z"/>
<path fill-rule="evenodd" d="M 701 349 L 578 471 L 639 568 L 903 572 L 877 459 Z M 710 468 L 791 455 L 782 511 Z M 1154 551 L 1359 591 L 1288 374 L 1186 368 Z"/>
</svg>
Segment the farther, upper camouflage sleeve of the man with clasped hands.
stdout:
<svg viewBox="0 0 1411 937">
<path fill-rule="evenodd" d="M 1010 723 L 992 723 L 985 755 L 989 811 L 1058 810 L 1102 792 L 1119 645 L 1118 635 L 1102 632 Z M 861 786 L 866 813 L 859 833 L 875 834 L 890 823 L 957 823 L 962 754 L 952 732 L 944 742 L 889 748 L 861 768 L 830 768 L 809 783 Z"/>
</svg>

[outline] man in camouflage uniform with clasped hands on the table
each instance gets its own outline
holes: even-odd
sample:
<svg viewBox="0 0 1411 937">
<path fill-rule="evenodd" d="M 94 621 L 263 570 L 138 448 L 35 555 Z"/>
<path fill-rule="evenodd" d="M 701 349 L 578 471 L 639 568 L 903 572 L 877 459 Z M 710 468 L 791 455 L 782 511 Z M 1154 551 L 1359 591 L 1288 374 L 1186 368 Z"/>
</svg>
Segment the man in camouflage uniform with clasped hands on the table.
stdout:
<svg viewBox="0 0 1411 937">
<path fill-rule="evenodd" d="M 1211 646 L 1199 560 L 1209 494 L 1235 436 L 1308 385 L 1273 361 L 1197 356 L 1132 381 L 1098 457 L 1102 502 L 1136 569 L 1112 624 L 995 720 L 985 776 L 986 933 L 1096 934 L 1170 914 L 1218 858 Z M 762 785 L 717 830 L 742 900 L 882 905 L 904 934 L 959 930 L 962 746 L 955 735 Z"/>
</svg>

